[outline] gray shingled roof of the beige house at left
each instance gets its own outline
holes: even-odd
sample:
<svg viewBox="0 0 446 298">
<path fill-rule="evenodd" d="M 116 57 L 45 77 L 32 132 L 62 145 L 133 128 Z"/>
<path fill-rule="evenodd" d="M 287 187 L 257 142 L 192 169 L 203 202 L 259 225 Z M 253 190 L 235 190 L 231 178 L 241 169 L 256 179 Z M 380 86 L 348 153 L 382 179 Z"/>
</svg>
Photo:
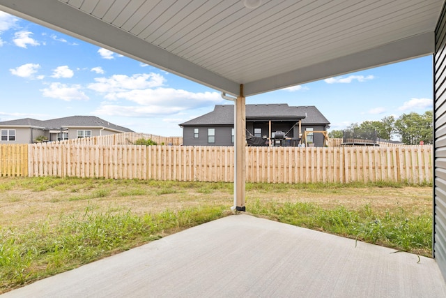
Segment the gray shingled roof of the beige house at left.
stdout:
<svg viewBox="0 0 446 298">
<path fill-rule="evenodd" d="M 104 127 L 115 131 L 125 133 L 133 132 L 129 128 L 112 124 L 104 119 L 95 116 L 70 116 L 49 120 L 37 120 L 32 118 L 24 118 L 10 121 L 0 122 L 0 126 L 27 126 L 45 129 L 62 128 L 62 127 Z"/>
</svg>

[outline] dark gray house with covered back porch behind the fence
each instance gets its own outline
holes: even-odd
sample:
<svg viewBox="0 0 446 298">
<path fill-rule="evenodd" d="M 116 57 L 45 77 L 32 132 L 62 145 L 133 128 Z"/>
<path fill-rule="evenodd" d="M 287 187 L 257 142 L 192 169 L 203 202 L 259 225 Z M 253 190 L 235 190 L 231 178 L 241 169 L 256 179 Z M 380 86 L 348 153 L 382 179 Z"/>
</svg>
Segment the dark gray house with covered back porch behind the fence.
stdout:
<svg viewBox="0 0 446 298">
<path fill-rule="evenodd" d="M 180 124 L 185 146 L 233 146 L 234 106 L 215 105 L 213 112 Z M 281 104 L 246 105 L 247 139 L 264 140 L 276 144 L 276 132 L 286 134 L 285 146 L 302 143 L 305 131 L 327 131 L 330 122 L 314 106 Z M 279 135 L 279 133 L 277 133 Z M 271 141 L 271 142 L 270 142 Z M 324 144 L 322 133 L 307 133 L 307 143 Z"/>
</svg>

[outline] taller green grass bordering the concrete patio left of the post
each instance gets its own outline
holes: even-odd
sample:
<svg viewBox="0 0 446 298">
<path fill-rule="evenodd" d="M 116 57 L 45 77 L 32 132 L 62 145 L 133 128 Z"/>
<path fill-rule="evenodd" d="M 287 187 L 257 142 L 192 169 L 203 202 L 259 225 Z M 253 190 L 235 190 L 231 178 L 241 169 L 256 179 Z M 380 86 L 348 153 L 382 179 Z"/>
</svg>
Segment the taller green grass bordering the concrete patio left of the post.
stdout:
<svg viewBox="0 0 446 298">
<path fill-rule="evenodd" d="M 0 238 L 0 291 L 78 267 L 139 244 L 160 239 L 228 214 L 226 207 L 187 208 L 137 216 L 84 214 L 62 216 L 59 224 L 33 223 L 26 228 L 3 228 Z M 51 226 L 51 228 L 50 228 Z"/>
</svg>

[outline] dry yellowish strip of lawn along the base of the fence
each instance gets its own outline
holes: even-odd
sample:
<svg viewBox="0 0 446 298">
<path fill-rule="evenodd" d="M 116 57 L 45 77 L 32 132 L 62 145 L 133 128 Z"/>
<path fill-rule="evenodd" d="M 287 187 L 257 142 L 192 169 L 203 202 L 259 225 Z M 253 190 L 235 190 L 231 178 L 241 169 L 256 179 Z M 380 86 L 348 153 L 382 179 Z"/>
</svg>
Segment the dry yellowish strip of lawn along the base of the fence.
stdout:
<svg viewBox="0 0 446 298">
<path fill-rule="evenodd" d="M 112 179 L 45 179 L 3 177 L 0 190 L 0 226 L 28 225 L 86 210 L 134 214 L 177 211 L 202 204 L 233 204 L 232 184 L 175 181 L 118 181 Z M 323 208 L 342 205 L 360 209 L 368 204 L 376 212 L 403 208 L 414 214 L 432 209 L 431 187 L 320 187 L 299 188 L 283 184 L 247 191 L 255 202 L 312 202 Z"/>
</svg>

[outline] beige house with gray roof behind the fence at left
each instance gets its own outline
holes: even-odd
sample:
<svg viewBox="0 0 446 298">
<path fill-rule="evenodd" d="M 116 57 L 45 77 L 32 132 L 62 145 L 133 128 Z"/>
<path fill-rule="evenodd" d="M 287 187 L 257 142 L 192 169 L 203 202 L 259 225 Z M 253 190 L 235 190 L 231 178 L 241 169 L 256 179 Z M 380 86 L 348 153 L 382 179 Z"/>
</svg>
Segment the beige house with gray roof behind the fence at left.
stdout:
<svg viewBox="0 0 446 298">
<path fill-rule="evenodd" d="M 1 121 L 0 144 L 26 144 L 44 137 L 48 142 L 132 132 L 95 116 L 71 116 L 58 119 L 31 118 Z"/>
</svg>

